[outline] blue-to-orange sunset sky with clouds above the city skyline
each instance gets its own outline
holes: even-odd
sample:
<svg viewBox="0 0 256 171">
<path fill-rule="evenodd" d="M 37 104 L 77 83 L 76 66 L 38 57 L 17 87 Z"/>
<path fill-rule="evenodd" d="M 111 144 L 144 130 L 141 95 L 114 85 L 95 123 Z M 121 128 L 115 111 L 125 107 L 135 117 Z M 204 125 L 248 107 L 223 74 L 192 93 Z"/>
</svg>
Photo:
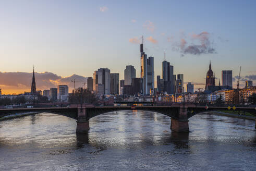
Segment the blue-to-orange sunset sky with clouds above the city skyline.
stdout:
<svg viewBox="0 0 256 171">
<path fill-rule="evenodd" d="M 39 90 L 65 83 L 71 91 L 71 79 L 98 68 L 124 79 L 133 65 L 140 77 L 142 35 L 155 80 L 166 52 L 195 88 L 210 60 L 217 79 L 233 70 L 234 85 L 242 66 L 243 86 L 256 81 L 255 16 L 256 1 L 0 1 L 0 88 L 30 91 L 33 65 Z"/>
</svg>

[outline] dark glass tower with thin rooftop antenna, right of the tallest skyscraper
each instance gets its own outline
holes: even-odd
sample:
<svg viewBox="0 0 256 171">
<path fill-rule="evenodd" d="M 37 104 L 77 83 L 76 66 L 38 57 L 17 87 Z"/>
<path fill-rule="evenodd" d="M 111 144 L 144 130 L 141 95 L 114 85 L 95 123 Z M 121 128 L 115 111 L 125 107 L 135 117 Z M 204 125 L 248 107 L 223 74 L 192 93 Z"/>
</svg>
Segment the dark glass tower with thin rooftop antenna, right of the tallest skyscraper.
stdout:
<svg viewBox="0 0 256 171">
<path fill-rule="evenodd" d="M 164 53 L 164 61 L 162 62 L 163 91 L 167 92 L 168 94 L 175 93 L 175 80 L 173 75 L 173 68 L 174 67 L 165 60 Z"/>
</svg>

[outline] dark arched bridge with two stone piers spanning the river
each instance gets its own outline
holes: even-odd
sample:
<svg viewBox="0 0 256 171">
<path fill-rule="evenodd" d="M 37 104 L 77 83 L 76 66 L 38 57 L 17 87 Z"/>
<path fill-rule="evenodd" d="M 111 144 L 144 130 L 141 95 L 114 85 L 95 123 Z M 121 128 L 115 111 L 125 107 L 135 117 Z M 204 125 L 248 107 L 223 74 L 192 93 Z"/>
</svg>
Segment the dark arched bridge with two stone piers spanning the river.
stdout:
<svg viewBox="0 0 256 171">
<path fill-rule="evenodd" d="M 230 106 L 197 106 L 194 104 L 172 104 L 169 106 L 94 106 L 93 104 L 70 105 L 69 107 L 44 107 L 44 108 L 12 108 L 0 109 L 0 118 L 25 112 L 53 113 L 67 116 L 77 120 L 77 133 L 87 133 L 90 129 L 89 119 L 104 113 L 123 111 L 123 110 L 140 110 L 151 111 L 167 115 L 171 118 L 170 129 L 176 132 L 189 132 L 189 118 L 206 111 L 218 110 L 237 110 L 249 112 L 256 116 L 254 107 L 230 107 Z M 255 120 L 256 129 L 256 120 Z"/>
</svg>

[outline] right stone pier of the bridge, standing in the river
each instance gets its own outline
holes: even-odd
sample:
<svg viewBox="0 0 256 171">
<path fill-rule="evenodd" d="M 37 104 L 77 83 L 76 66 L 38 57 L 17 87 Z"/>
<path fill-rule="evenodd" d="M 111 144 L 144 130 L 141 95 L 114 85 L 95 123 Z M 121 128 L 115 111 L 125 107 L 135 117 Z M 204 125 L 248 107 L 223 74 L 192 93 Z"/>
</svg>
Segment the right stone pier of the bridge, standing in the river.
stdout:
<svg viewBox="0 0 256 171">
<path fill-rule="evenodd" d="M 180 107 L 179 109 L 179 119 L 172 118 L 170 121 L 170 129 L 175 132 L 189 132 L 187 117 L 187 107 Z"/>
</svg>

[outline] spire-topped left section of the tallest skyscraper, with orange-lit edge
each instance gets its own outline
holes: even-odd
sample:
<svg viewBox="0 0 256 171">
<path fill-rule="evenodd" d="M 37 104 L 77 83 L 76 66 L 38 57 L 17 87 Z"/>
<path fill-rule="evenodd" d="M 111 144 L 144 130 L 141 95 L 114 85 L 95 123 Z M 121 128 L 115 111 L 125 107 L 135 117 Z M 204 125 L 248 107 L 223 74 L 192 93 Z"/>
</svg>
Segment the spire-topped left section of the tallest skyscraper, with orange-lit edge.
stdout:
<svg viewBox="0 0 256 171">
<path fill-rule="evenodd" d="M 140 44 L 140 78 L 142 78 L 142 94 L 148 94 L 148 61 L 147 55 L 143 51 L 143 36 L 142 44 Z"/>
</svg>

